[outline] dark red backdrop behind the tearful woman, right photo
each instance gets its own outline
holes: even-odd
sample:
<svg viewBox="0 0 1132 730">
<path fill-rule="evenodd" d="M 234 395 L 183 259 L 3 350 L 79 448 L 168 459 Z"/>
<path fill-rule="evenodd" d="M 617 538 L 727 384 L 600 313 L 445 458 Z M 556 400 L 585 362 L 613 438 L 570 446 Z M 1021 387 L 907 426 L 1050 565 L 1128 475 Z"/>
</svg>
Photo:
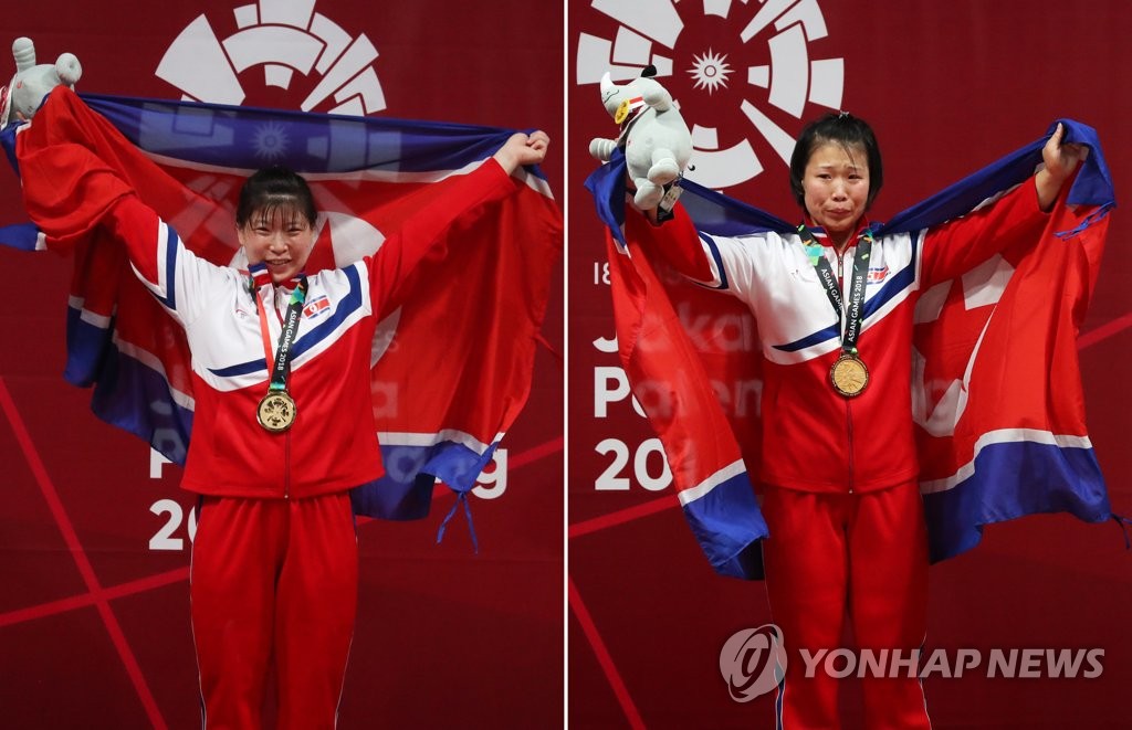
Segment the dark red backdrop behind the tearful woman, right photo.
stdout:
<svg viewBox="0 0 1132 730">
<path fill-rule="evenodd" d="M 1098 129 L 1127 194 L 1132 102 L 1121 75 L 1132 67 L 1130 25 L 1121 0 L 569 3 L 572 727 L 762 728 L 773 718 L 773 693 L 735 703 L 718 668 L 732 633 L 770 620 L 762 584 L 711 572 L 608 347 L 602 232 L 582 189 L 597 165 L 589 139 L 616 132 L 599 102 L 600 73 L 635 76 L 655 63 L 700 128 L 693 164 L 743 171 L 749 180 L 726 191 L 787 218 L 797 207 L 771 140 L 791 139 L 826 108 L 869 120 L 884 150 L 887 184 L 872 211 L 883 220 L 1037 139 L 1057 116 Z M 1113 507 L 1129 514 L 1132 311 L 1118 275 L 1132 264 L 1132 219 L 1123 209 L 1109 231 L 1079 347 L 1090 434 Z M 935 727 L 1126 727 L 1132 556 L 1113 523 L 1057 515 L 989 527 L 976 550 L 932 568 L 931 597 L 927 651 L 1105 651 L 1095 679 L 988 679 L 985 663 L 981 673 L 929 679 Z M 860 727 L 859 686 L 850 681 L 842 702 L 847 727 Z"/>
</svg>

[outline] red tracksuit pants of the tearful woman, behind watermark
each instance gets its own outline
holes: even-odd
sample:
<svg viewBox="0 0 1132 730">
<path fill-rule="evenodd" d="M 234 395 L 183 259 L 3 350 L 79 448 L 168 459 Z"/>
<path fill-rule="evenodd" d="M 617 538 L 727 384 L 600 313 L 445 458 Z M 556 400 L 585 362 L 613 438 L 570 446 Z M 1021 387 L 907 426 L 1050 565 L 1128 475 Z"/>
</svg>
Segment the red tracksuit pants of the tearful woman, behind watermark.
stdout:
<svg viewBox="0 0 1132 730">
<path fill-rule="evenodd" d="M 838 679 L 824 661 L 806 677 L 800 650 L 813 659 L 820 650 L 843 648 L 847 609 L 857 649 L 890 655 L 899 649 L 903 658 L 920 649 L 928 558 L 919 489 L 909 483 L 864 494 L 815 494 L 767 486 L 762 511 L 771 535 L 763 544 L 771 618 L 788 651 L 778 727 L 835 730 Z M 838 662 L 835 670 L 844 666 Z M 867 728 L 931 728 L 917 669 L 906 668 L 898 678 L 865 672 Z"/>
</svg>

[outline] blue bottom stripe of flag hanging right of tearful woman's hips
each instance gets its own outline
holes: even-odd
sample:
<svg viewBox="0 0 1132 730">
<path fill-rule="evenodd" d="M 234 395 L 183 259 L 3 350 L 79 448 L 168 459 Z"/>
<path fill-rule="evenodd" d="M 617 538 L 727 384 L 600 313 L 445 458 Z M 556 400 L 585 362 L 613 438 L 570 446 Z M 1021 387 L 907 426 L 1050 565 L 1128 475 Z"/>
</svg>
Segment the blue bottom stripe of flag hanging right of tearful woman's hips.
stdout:
<svg viewBox="0 0 1132 730">
<path fill-rule="evenodd" d="M 933 563 L 978 545 L 984 524 L 1049 512 L 1087 522 L 1112 516 L 1092 449 L 1029 441 L 984 446 L 975 473 L 951 489 L 924 495 L 924 511 Z"/>
</svg>

